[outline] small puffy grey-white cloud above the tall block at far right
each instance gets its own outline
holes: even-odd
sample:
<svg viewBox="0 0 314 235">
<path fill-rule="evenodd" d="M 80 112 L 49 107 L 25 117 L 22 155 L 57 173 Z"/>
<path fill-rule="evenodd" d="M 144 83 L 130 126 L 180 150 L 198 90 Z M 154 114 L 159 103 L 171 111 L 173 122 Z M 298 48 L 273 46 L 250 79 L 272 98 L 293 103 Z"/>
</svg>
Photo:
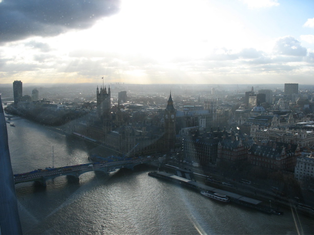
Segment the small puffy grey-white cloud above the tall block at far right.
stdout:
<svg viewBox="0 0 314 235">
<path fill-rule="evenodd" d="M 306 56 L 307 49 L 291 36 L 278 39 L 275 43 L 274 52 L 280 55 Z"/>
</svg>

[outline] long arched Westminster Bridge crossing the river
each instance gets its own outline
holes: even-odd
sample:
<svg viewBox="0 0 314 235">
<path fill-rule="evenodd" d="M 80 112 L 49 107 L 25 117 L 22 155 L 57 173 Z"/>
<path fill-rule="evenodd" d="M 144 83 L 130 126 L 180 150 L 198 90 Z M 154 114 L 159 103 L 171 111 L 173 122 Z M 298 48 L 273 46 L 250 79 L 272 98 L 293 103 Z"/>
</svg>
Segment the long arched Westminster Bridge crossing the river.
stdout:
<svg viewBox="0 0 314 235">
<path fill-rule="evenodd" d="M 89 171 L 101 171 L 108 174 L 111 171 L 120 168 L 133 168 L 138 164 L 145 164 L 151 162 L 151 158 L 138 158 L 138 159 L 128 159 L 120 161 L 107 161 L 99 163 L 88 163 L 88 164 L 78 164 L 62 166 L 57 168 L 47 167 L 46 169 L 37 169 L 26 173 L 20 173 L 14 175 L 14 183 L 24 183 L 35 181 L 43 186 L 46 186 L 46 181 L 49 179 L 54 179 L 59 176 L 68 176 L 73 180 L 78 180 L 79 176 L 83 173 Z"/>
</svg>

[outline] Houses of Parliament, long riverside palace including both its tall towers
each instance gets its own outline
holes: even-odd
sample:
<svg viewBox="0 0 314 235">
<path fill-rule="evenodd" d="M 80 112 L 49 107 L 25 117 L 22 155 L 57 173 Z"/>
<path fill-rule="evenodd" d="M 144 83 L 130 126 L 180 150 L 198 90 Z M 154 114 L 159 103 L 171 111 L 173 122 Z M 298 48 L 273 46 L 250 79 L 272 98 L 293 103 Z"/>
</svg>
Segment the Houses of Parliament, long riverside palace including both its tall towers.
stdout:
<svg viewBox="0 0 314 235">
<path fill-rule="evenodd" d="M 162 125 L 152 123 L 136 123 L 130 125 L 123 118 L 118 107 L 111 110 L 110 87 L 97 87 L 96 110 L 83 118 L 72 120 L 66 125 L 66 132 L 104 144 L 121 154 L 130 153 L 135 156 L 166 153 L 175 151 L 176 109 L 173 106 L 171 93 L 167 107 L 160 113 Z"/>
</svg>

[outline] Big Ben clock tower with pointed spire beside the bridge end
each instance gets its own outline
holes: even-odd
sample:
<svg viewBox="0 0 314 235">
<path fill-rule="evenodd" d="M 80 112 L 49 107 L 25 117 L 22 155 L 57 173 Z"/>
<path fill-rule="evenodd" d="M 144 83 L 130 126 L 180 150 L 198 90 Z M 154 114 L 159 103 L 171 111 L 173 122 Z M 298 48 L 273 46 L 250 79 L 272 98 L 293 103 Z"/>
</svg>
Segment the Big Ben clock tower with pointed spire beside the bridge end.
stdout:
<svg viewBox="0 0 314 235">
<path fill-rule="evenodd" d="M 173 101 L 170 96 L 168 99 L 167 108 L 165 109 L 165 134 L 164 134 L 164 149 L 165 151 L 174 151 L 176 142 L 176 110 L 173 107 Z"/>
</svg>

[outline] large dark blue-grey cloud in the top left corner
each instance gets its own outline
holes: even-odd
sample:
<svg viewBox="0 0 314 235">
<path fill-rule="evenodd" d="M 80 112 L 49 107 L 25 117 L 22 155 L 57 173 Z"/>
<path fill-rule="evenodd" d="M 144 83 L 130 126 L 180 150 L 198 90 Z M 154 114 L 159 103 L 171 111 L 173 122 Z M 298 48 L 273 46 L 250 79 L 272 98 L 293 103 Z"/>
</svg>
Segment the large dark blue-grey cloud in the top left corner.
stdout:
<svg viewBox="0 0 314 235">
<path fill-rule="evenodd" d="M 116 13 L 120 0 L 2 0 L 0 43 L 84 29 Z"/>
</svg>

